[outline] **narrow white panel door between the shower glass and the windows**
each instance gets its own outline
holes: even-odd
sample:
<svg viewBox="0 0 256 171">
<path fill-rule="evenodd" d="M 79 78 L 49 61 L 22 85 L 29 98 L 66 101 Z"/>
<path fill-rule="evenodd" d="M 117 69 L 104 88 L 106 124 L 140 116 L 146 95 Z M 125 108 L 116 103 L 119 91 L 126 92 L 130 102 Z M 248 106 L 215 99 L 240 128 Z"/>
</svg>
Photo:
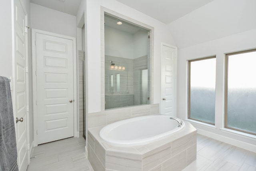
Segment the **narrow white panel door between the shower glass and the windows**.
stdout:
<svg viewBox="0 0 256 171">
<path fill-rule="evenodd" d="M 161 51 L 161 114 L 176 116 L 177 48 L 162 44 Z"/>
</svg>

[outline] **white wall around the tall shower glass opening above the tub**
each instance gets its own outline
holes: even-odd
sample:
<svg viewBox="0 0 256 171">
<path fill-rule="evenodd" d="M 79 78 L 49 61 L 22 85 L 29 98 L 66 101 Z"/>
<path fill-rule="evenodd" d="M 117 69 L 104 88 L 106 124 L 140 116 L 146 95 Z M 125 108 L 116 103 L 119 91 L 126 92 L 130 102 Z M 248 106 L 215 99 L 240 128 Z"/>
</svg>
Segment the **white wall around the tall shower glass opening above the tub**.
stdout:
<svg viewBox="0 0 256 171">
<path fill-rule="evenodd" d="M 101 111 L 101 32 L 100 24 L 101 20 L 101 6 L 108 8 L 114 12 L 118 12 L 124 16 L 147 24 L 154 27 L 154 101 L 153 103 L 160 103 L 160 56 L 161 56 L 161 42 L 167 44 L 176 45 L 168 26 L 166 24 L 151 18 L 141 12 L 138 12 L 124 4 L 121 4 L 115 0 L 82 0 L 81 4 L 84 4 L 84 8 L 80 8 L 78 11 L 79 16 L 85 13 L 85 27 L 86 27 L 86 44 L 87 51 L 87 109 L 88 113 Z M 78 18 L 79 18 L 78 16 Z M 104 110 L 104 109 L 103 109 Z"/>
</svg>

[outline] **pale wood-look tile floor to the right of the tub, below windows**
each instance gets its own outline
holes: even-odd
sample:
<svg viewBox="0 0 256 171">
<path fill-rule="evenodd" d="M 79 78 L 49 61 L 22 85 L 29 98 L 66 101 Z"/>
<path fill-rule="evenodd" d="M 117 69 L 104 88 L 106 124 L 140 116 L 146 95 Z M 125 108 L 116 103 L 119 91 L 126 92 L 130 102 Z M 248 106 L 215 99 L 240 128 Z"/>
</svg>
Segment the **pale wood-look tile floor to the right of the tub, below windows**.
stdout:
<svg viewBox="0 0 256 171">
<path fill-rule="evenodd" d="M 183 171 L 256 171 L 256 153 L 197 135 L 197 159 Z"/>
</svg>

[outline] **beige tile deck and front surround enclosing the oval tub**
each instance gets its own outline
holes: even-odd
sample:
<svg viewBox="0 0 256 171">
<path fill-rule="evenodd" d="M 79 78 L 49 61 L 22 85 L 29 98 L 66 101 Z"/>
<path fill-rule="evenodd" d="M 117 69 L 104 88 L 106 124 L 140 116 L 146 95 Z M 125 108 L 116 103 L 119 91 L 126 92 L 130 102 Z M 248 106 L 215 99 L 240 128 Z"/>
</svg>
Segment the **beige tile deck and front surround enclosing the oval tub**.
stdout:
<svg viewBox="0 0 256 171">
<path fill-rule="evenodd" d="M 99 135 L 102 127 L 88 130 L 88 159 L 96 171 L 181 171 L 196 160 L 196 129 L 188 122 L 185 129 L 155 142 L 115 147 Z"/>
</svg>

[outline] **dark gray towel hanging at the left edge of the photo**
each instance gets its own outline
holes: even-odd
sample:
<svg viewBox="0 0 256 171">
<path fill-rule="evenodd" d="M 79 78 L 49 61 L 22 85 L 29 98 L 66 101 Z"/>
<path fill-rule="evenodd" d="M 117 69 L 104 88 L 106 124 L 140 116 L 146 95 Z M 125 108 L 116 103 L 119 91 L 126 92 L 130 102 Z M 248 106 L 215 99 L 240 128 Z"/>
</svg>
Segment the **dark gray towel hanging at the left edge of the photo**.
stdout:
<svg viewBox="0 0 256 171">
<path fill-rule="evenodd" d="M 18 171 L 10 82 L 0 76 L 0 171 Z"/>
</svg>

